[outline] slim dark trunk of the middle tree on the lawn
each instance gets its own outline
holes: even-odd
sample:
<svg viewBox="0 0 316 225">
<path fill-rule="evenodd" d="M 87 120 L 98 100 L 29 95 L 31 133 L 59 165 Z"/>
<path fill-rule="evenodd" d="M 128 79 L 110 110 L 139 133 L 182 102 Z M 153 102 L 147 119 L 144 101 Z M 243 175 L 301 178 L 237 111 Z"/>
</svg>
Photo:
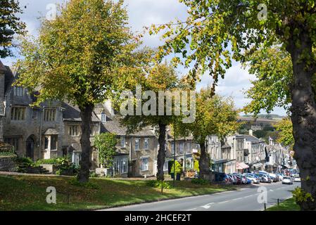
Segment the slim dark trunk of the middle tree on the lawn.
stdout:
<svg viewBox="0 0 316 225">
<path fill-rule="evenodd" d="M 163 165 L 165 164 L 165 124 L 159 124 L 159 150 L 157 156 L 157 180 L 163 181 L 165 179 L 163 173 Z"/>
</svg>

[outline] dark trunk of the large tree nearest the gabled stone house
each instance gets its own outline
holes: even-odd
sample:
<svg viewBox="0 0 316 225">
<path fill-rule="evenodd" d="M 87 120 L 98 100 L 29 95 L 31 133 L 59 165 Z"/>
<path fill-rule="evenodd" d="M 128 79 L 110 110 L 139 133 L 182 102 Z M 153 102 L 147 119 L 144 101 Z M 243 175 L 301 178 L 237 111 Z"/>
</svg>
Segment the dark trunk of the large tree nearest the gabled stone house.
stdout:
<svg viewBox="0 0 316 225">
<path fill-rule="evenodd" d="M 85 183 L 89 181 L 90 174 L 90 155 L 91 155 L 91 143 L 90 143 L 90 135 L 91 135 L 91 116 L 92 111 L 94 109 L 94 105 L 85 105 L 80 107 L 80 116 L 81 116 L 81 139 L 80 144 L 82 148 L 81 160 L 80 160 L 80 171 L 78 174 L 78 181 L 80 183 Z"/>
</svg>

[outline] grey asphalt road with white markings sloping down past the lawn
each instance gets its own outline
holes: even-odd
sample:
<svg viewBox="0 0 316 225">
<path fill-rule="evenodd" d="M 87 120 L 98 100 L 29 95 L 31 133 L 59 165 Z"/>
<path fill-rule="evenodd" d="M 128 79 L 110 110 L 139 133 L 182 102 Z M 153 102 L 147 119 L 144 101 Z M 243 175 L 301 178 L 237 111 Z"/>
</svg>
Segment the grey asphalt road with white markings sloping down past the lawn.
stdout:
<svg viewBox="0 0 316 225">
<path fill-rule="evenodd" d="M 277 204 L 278 198 L 280 201 L 291 198 L 291 191 L 299 186 L 301 186 L 299 182 L 292 185 L 282 184 L 282 182 L 253 184 L 237 191 L 115 207 L 106 211 L 260 211 L 264 210 L 262 199 L 265 194 L 267 207 L 270 207 Z"/>
</svg>

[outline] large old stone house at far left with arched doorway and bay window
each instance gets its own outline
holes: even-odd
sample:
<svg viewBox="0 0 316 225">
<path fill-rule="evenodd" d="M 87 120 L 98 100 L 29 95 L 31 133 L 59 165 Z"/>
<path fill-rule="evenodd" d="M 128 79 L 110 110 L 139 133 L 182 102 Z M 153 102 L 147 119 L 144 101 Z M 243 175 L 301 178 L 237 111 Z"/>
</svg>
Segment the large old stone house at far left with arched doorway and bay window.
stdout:
<svg viewBox="0 0 316 225">
<path fill-rule="evenodd" d="M 36 96 L 23 87 L 12 86 L 17 78 L 18 72 L 7 72 L 4 141 L 14 146 L 20 157 L 38 160 L 70 155 L 72 162 L 78 164 L 81 152 L 80 111 L 60 101 L 47 101 L 39 107 L 31 107 Z M 100 130 L 96 116 L 92 118 L 92 129 L 91 141 Z"/>
</svg>

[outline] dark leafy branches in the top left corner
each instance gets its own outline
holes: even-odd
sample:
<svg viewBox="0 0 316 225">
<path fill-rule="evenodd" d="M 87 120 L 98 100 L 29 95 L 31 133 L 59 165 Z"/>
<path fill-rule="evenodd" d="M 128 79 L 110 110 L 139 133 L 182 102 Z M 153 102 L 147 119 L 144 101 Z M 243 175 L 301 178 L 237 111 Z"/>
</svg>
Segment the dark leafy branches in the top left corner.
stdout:
<svg viewBox="0 0 316 225">
<path fill-rule="evenodd" d="M 23 13 L 18 1 L 1 0 L 0 4 L 0 58 L 12 56 L 11 46 L 13 32 L 25 34 L 25 23 L 20 21 L 17 13 Z"/>
</svg>

